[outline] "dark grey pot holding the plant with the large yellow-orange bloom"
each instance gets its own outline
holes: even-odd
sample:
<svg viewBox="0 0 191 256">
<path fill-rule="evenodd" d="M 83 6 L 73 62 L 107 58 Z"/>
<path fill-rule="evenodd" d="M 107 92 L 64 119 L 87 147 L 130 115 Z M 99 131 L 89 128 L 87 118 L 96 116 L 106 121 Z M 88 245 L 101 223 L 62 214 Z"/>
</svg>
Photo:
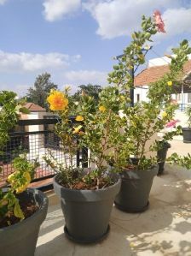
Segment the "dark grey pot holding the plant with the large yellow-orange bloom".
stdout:
<svg viewBox="0 0 191 256">
<path fill-rule="evenodd" d="M 54 179 L 55 193 L 61 197 L 67 238 L 80 243 L 101 241 L 109 231 L 109 218 L 121 180 L 115 177 L 112 186 L 98 190 L 63 188 Z"/>
</svg>

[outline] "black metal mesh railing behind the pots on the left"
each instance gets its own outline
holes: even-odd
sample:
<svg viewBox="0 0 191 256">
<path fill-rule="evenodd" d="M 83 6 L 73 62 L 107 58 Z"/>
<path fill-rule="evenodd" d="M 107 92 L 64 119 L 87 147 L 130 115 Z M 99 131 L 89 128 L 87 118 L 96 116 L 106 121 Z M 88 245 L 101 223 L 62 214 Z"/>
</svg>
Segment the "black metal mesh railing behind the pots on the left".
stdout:
<svg viewBox="0 0 191 256">
<path fill-rule="evenodd" d="M 71 116 L 71 120 L 72 123 L 75 122 L 74 116 Z M 55 176 L 55 171 L 47 166 L 43 156 L 51 153 L 59 163 L 64 160 L 61 140 L 54 132 L 56 122 L 58 122 L 58 118 L 20 120 L 18 122 L 16 131 L 9 133 L 9 142 L 4 147 L 3 154 L 0 155 L 0 166 L 2 167 L 0 187 L 5 184 L 9 174 L 14 171 L 12 160 L 21 153 L 26 153 L 26 158 L 30 161 L 38 158 L 40 166 L 32 182 Z M 75 143 L 78 143 L 78 140 Z M 76 166 L 86 167 L 86 164 L 83 163 L 83 159 L 86 158 L 87 149 L 84 148 L 81 152 L 76 152 L 73 163 Z"/>
</svg>

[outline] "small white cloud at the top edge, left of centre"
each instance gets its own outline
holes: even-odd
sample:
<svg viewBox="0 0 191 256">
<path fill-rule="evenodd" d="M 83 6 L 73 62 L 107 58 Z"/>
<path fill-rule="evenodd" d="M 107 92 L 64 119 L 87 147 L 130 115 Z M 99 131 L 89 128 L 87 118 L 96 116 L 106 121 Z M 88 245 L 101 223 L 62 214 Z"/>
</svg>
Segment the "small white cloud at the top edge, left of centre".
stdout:
<svg viewBox="0 0 191 256">
<path fill-rule="evenodd" d="M 47 21 L 57 21 L 65 15 L 77 11 L 81 6 L 81 0 L 44 0 L 43 15 Z"/>
</svg>

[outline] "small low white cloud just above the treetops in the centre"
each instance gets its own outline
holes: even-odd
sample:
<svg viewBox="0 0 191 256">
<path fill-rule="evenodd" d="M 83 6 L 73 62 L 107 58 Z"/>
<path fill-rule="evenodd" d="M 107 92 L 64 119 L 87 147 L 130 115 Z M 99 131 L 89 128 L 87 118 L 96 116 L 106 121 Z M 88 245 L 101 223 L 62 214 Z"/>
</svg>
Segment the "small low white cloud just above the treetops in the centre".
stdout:
<svg viewBox="0 0 191 256">
<path fill-rule="evenodd" d="M 107 83 L 107 72 L 97 70 L 71 70 L 64 74 L 63 80 L 77 86 L 88 83 L 105 86 Z"/>
</svg>

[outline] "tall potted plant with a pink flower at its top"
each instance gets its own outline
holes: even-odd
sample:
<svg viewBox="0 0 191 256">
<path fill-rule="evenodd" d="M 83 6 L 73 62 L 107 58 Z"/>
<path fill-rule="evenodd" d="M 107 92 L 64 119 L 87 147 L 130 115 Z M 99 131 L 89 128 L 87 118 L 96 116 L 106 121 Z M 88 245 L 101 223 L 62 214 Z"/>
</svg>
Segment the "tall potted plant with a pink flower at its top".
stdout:
<svg viewBox="0 0 191 256">
<path fill-rule="evenodd" d="M 153 177 L 158 173 L 159 162 L 159 143 L 154 139 L 154 135 L 165 128 L 174 117 L 177 104 L 171 99 L 173 84 L 179 79 L 183 64 L 188 60 L 190 53 L 188 41 L 183 40 L 180 46 L 173 50 L 175 57 L 169 56 L 169 73 L 149 86 L 149 102 L 130 106 L 128 96 L 130 88 L 133 88 L 133 78 L 130 74 L 134 67 L 145 63 L 142 48 L 151 41 L 152 35 L 157 31 L 165 32 L 159 11 L 154 12 L 153 19 L 143 16 L 142 31 L 132 33 L 132 42 L 124 49 L 123 57 L 119 64 L 113 67 L 114 70 L 108 79 L 119 88 L 119 93 L 126 102 L 125 107 L 119 110 L 123 121 L 120 125 L 123 128 L 124 148 L 121 148 L 119 154 L 122 185 L 115 198 L 115 205 L 123 211 L 144 211 L 148 208 L 148 196 Z"/>
</svg>

